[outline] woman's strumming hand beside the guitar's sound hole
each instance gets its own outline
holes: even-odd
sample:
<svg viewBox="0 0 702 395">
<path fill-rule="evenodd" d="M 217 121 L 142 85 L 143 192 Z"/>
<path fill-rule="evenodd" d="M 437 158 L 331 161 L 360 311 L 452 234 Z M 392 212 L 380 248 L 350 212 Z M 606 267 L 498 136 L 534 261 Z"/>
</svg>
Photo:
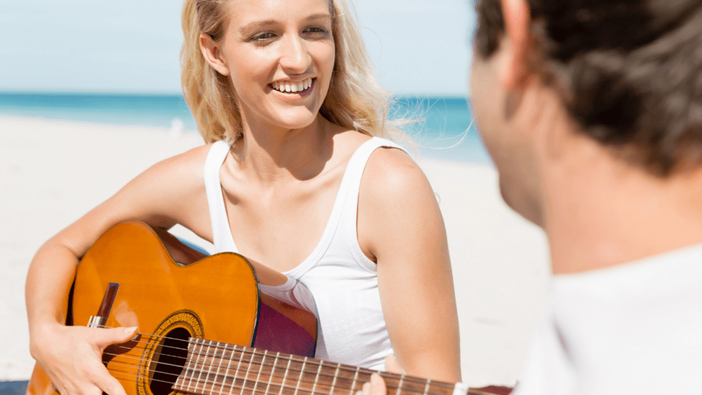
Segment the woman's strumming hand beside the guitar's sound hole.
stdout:
<svg viewBox="0 0 702 395">
<path fill-rule="evenodd" d="M 137 328 L 87 328 L 53 325 L 32 339 L 32 357 L 61 395 L 126 395 L 122 384 L 102 364 L 110 344 L 132 339 Z"/>
</svg>

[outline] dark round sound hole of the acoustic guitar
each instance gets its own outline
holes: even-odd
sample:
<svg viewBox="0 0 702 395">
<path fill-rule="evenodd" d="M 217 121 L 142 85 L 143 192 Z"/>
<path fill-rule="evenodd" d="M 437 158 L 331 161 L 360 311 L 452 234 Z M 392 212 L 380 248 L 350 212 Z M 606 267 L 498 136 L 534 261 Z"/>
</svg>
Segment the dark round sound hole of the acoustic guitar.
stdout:
<svg viewBox="0 0 702 395">
<path fill-rule="evenodd" d="M 168 395 L 173 392 L 173 384 L 185 367 L 189 338 L 190 332 L 184 328 L 171 330 L 154 353 L 149 383 L 154 395 Z"/>
</svg>

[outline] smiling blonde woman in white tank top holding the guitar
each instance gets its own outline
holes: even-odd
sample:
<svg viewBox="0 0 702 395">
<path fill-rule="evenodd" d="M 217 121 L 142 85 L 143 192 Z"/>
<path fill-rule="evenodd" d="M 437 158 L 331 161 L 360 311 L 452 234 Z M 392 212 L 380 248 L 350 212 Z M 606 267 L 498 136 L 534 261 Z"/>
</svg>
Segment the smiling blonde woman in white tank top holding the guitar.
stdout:
<svg viewBox="0 0 702 395">
<path fill-rule="evenodd" d="M 382 369 L 395 354 L 408 373 L 460 380 L 444 222 L 423 172 L 383 138 L 402 133 L 345 0 L 187 0 L 183 30 L 183 92 L 207 144 L 147 169 L 29 268 L 32 356 L 58 391 L 124 394 L 100 354 L 137 329 L 64 324 L 79 259 L 131 219 L 239 252 L 272 290 L 306 285 L 317 358 Z"/>
</svg>

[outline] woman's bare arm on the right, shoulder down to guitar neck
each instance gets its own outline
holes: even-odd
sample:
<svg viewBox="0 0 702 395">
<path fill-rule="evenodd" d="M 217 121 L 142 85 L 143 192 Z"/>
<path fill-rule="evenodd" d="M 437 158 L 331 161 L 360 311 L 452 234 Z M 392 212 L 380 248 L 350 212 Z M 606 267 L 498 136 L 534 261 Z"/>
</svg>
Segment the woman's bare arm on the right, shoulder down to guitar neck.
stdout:
<svg viewBox="0 0 702 395">
<path fill-rule="evenodd" d="M 358 238 L 378 263 L 383 316 L 399 364 L 409 375 L 460 381 L 444 221 L 423 172 L 400 150 L 378 149 L 366 165 Z"/>
</svg>

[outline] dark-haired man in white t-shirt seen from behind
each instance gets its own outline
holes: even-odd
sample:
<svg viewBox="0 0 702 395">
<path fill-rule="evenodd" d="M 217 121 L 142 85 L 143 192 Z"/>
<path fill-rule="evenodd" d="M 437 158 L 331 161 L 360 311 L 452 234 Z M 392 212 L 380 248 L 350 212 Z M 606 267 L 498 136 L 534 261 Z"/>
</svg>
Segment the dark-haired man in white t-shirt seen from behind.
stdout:
<svg viewBox="0 0 702 395">
<path fill-rule="evenodd" d="M 702 2 L 479 0 L 477 14 L 477 127 L 552 261 L 514 394 L 698 394 Z M 372 382 L 366 395 L 385 392 Z"/>
</svg>

